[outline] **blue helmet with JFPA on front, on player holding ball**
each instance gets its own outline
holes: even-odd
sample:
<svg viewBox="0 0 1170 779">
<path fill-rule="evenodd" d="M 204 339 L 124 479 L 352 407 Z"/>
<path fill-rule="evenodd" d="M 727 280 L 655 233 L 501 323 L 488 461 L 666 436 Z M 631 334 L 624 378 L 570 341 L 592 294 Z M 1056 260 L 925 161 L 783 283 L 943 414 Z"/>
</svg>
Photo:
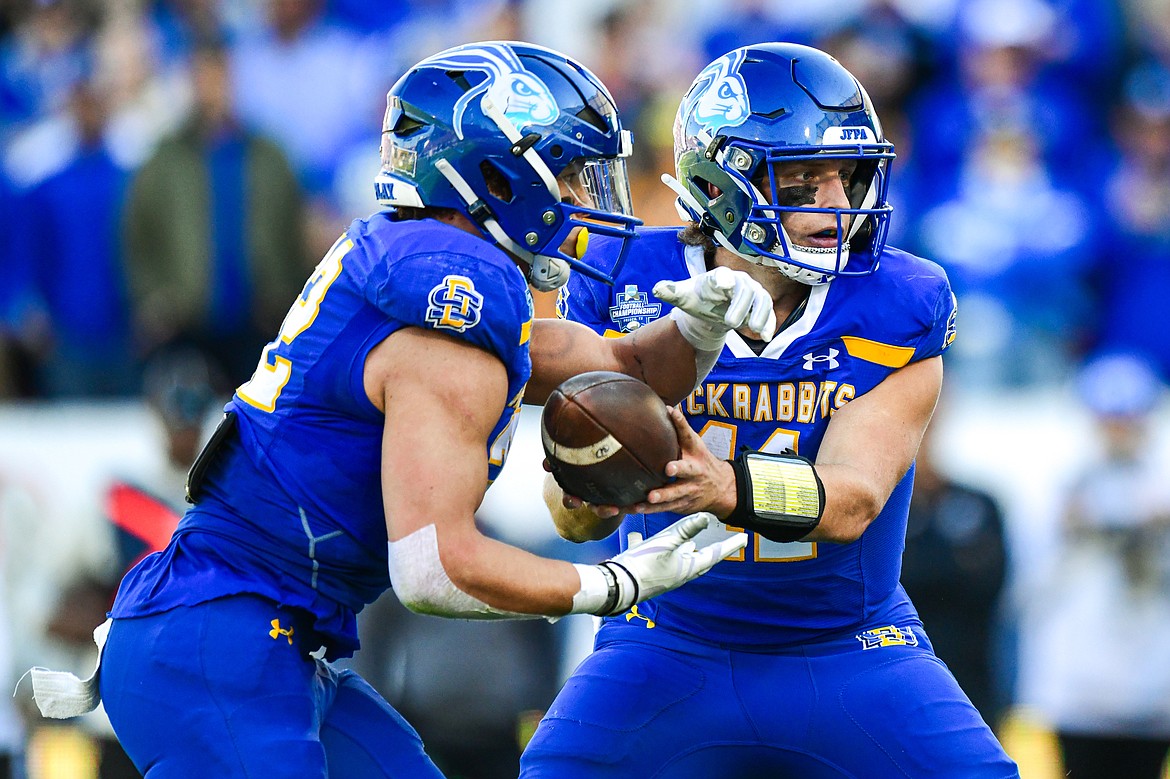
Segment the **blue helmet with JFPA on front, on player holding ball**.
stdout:
<svg viewBox="0 0 1170 779">
<path fill-rule="evenodd" d="M 662 180 L 679 195 L 680 215 L 724 248 L 804 284 L 876 269 L 893 211 L 894 146 L 866 90 L 828 54 L 759 43 L 723 55 L 682 98 L 674 156 L 677 178 Z M 801 206 L 777 186 L 776 165 L 821 159 L 858 161 L 846 185 L 851 208 Z M 837 248 L 793 244 L 780 219 L 794 212 L 834 214 Z"/>
</svg>

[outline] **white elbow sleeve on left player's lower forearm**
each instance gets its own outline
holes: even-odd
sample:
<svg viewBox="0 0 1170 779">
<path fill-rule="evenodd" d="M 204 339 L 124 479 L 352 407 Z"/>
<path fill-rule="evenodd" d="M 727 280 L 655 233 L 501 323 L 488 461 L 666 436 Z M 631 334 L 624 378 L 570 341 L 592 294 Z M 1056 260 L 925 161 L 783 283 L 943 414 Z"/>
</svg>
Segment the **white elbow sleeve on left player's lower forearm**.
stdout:
<svg viewBox="0 0 1170 779">
<path fill-rule="evenodd" d="M 387 544 L 390 582 L 412 612 L 464 620 L 536 619 L 539 614 L 505 612 L 469 595 L 450 580 L 439 558 L 434 524 Z"/>
</svg>

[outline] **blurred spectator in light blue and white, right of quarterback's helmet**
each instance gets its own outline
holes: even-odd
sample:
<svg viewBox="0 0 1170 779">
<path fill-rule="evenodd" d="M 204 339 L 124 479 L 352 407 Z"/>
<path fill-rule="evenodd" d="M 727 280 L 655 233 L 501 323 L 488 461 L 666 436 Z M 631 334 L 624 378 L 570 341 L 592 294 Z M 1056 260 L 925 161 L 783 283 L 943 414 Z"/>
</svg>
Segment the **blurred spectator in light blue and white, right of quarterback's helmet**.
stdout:
<svg viewBox="0 0 1170 779">
<path fill-rule="evenodd" d="M 947 269 L 971 333 L 949 365 L 968 386 L 1059 381 L 1088 337 L 1094 212 L 1053 180 L 1041 130 L 973 137 L 957 192 L 921 222 L 922 250 Z"/>
</svg>

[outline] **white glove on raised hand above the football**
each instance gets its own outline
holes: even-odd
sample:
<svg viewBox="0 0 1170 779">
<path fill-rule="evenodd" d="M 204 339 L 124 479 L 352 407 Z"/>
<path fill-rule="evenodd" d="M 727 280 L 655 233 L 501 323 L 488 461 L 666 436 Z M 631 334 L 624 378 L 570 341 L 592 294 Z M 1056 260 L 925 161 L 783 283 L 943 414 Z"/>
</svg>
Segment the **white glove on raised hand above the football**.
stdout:
<svg viewBox="0 0 1170 779">
<path fill-rule="evenodd" d="M 674 305 L 679 332 L 698 351 L 723 347 L 723 338 L 744 325 L 764 340 L 776 335 L 772 297 L 759 282 L 720 266 L 683 281 L 660 281 L 654 294 Z"/>
</svg>

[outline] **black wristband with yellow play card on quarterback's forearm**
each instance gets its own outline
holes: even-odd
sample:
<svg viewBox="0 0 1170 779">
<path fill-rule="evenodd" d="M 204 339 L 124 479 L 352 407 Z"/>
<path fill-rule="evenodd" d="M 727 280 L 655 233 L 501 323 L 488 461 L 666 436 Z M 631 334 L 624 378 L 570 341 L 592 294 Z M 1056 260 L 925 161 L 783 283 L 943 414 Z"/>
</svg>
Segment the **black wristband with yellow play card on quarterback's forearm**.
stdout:
<svg viewBox="0 0 1170 779">
<path fill-rule="evenodd" d="M 736 508 L 724 522 L 775 542 L 800 540 L 820 524 L 825 485 L 812 462 L 794 454 L 744 451 L 730 461 Z"/>
</svg>

